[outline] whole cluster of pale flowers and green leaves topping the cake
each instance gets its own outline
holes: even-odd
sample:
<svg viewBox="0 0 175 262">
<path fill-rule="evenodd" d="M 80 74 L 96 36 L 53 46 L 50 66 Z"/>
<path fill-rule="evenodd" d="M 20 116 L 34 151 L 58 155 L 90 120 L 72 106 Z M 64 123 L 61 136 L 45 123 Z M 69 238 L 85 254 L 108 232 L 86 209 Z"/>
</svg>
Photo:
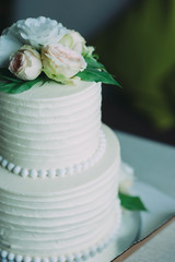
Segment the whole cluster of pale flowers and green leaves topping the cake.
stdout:
<svg viewBox="0 0 175 262">
<path fill-rule="evenodd" d="M 20 20 L 0 37 L 0 92 L 22 93 L 37 82 L 79 80 L 119 85 L 75 31 L 39 16 Z"/>
</svg>

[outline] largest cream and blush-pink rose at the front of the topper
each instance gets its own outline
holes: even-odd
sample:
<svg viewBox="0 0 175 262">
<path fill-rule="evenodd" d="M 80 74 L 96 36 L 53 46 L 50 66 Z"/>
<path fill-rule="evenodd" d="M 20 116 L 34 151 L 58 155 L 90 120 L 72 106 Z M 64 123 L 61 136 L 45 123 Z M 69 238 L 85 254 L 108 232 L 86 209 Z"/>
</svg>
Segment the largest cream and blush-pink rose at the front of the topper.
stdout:
<svg viewBox="0 0 175 262">
<path fill-rule="evenodd" d="M 47 76 L 62 83 L 86 68 L 84 58 L 79 52 L 61 44 L 43 47 L 42 61 Z"/>
</svg>

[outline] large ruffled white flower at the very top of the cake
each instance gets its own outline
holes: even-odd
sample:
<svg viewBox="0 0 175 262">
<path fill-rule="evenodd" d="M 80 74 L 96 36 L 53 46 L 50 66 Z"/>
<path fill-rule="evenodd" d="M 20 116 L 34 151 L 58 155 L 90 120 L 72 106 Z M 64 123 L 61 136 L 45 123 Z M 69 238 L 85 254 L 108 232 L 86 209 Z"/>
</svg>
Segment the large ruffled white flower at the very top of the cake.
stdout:
<svg viewBox="0 0 175 262">
<path fill-rule="evenodd" d="M 11 36 L 23 45 L 28 44 L 39 49 L 40 45 L 58 43 L 68 32 L 56 20 L 39 16 L 37 19 L 20 20 L 11 27 L 4 29 L 2 35 Z"/>
</svg>

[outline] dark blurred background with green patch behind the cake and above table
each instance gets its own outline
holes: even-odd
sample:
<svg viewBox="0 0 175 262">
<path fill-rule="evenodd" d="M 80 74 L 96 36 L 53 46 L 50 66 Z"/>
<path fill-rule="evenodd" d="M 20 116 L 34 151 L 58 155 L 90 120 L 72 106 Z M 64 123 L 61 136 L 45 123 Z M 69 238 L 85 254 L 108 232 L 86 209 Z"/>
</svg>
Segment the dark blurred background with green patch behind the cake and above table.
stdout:
<svg viewBox="0 0 175 262">
<path fill-rule="evenodd" d="M 121 90 L 103 86 L 103 121 L 175 145 L 174 0 L 0 0 L 0 31 L 49 16 L 80 32 Z"/>
</svg>

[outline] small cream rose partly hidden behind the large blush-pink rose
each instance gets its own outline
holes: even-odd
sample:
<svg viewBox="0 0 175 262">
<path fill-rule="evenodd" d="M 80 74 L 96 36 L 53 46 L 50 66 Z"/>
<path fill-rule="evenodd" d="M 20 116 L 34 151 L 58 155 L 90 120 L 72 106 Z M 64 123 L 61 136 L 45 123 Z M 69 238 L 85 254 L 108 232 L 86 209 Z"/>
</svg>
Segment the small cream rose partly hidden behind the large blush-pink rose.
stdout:
<svg viewBox="0 0 175 262">
<path fill-rule="evenodd" d="M 84 51 L 85 39 L 75 31 L 70 31 L 69 34 L 66 34 L 59 43 L 79 53 Z"/>
</svg>

